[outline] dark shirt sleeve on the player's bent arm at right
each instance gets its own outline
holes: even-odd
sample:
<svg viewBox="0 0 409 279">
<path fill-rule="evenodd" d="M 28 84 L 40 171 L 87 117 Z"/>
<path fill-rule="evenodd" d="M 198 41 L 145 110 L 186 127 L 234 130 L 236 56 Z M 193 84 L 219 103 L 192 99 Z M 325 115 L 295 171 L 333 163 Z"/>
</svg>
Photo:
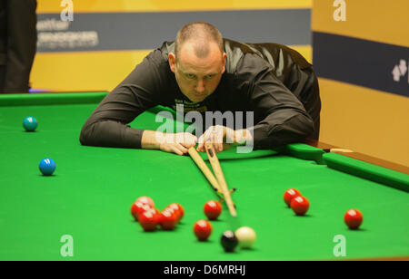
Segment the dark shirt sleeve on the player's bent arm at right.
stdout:
<svg viewBox="0 0 409 279">
<path fill-rule="evenodd" d="M 253 131 L 254 149 L 272 149 L 310 135 L 314 121 L 302 102 L 276 78 L 271 65 L 250 55 L 244 56 L 244 63 L 253 75 L 251 69 L 262 69 L 249 84 L 251 111 L 257 120 L 249 129 Z"/>
</svg>

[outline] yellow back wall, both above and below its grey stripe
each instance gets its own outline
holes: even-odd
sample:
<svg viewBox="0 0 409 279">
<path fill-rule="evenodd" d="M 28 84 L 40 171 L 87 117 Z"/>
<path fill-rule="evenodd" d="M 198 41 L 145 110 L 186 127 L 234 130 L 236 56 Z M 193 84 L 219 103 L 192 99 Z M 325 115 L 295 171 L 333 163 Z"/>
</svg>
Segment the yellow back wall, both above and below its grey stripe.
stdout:
<svg viewBox="0 0 409 279">
<path fill-rule="evenodd" d="M 61 13 L 60 3 L 38 0 L 37 13 Z M 312 0 L 73 0 L 73 3 L 74 13 L 299 9 L 312 6 Z M 310 45 L 292 47 L 311 62 Z M 32 87 L 52 91 L 111 91 L 150 51 L 37 53 L 31 72 Z"/>
</svg>

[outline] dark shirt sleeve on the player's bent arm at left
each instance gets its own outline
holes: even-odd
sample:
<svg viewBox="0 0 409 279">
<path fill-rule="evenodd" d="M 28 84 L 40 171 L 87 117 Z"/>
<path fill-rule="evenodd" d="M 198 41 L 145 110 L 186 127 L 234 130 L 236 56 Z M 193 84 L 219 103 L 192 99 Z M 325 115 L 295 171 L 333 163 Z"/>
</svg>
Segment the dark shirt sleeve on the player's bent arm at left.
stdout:
<svg viewBox="0 0 409 279">
<path fill-rule="evenodd" d="M 80 134 L 81 144 L 140 149 L 144 130 L 127 124 L 161 103 L 159 94 L 165 80 L 165 67 L 159 50 L 146 56 L 86 120 Z"/>
</svg>

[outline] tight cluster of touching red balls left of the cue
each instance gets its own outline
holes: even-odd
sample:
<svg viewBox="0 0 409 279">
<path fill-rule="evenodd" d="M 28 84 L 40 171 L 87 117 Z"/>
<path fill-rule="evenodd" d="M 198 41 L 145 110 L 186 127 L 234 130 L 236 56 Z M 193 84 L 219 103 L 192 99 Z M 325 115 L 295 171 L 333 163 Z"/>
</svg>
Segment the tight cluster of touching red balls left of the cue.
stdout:
<svg viewBox="0 0 409 279">
<path fill-rule="evenodd" d="M 155 208 L 152 198 L 138 197 L 131 207 L 131 214 L 145 232 L 152 232 L 157 226 L 163 230 L 173 230 L 185 215 L 185 209 L 181 205 L 173 203 L 160 212 Z"/>
</svg>

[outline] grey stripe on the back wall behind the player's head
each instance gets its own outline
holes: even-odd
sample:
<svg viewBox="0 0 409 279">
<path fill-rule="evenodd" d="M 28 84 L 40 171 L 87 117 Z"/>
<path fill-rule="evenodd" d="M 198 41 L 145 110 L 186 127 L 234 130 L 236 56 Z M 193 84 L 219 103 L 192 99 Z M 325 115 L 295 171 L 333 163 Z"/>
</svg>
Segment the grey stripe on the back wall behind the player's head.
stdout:
<svg viewBox="0 0 409 279">
<path fill-rule="evenodd" d="M 60 14 L 38 14 L 38 22 L 55 19 Z M 205 21 L 214 24 L 226 38 L 246 43 L 275 42 L 311 44 L 311 11 L 244 10 L 177 13 L 77 13 L 67 30 L 41 30 L 40 33 L 96 32 L 98 43 L 93 46 L 69 47 L 61 40 L 49 47 L 40 42 L 38 52 L 105 51 L 153 49 L 164 41 L 175 40 L 185 24 Z"/>
</svg>

